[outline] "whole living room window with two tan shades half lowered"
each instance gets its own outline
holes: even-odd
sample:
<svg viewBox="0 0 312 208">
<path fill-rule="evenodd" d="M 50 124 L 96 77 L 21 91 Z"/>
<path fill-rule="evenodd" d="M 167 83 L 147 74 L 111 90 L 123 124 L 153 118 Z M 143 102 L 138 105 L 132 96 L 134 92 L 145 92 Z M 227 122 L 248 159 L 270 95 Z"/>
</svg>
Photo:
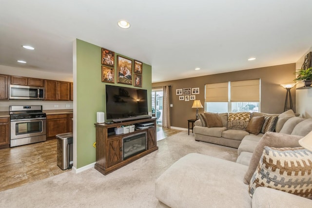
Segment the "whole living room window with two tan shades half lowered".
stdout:
<svg viewBox="0 0 312 208">
<path fill-rule="evenodd" d="M 205 111 L 260 112 L 260 79 L 206 84 Z"/>
</svg>

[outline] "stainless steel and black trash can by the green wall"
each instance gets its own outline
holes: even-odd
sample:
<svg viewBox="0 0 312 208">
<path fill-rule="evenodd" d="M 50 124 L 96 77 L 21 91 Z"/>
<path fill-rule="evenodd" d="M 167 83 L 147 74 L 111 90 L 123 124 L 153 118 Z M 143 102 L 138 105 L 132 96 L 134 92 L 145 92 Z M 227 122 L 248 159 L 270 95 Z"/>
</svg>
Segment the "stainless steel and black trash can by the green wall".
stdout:
<svg viewBox="0 0 312 208">
<path fill-rule="evenodd" d="M 73 133 L 62 133 L 57 136 L 58 166 L 62 170 L 73 167 Z"/>
</svg>

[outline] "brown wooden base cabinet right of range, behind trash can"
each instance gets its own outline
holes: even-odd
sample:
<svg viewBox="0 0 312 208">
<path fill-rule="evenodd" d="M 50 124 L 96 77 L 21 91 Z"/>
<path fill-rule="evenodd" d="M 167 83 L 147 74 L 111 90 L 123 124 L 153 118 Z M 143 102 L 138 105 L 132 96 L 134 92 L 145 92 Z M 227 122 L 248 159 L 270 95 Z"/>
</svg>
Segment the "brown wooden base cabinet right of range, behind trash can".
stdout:
<svg viewBox="0 0 312 208">
<path fill-rule="evenodd" d="M 55 139 L 57 134 L 68 132 L 67 114 L 47 115 L 47 139 Z"/>
</svg>

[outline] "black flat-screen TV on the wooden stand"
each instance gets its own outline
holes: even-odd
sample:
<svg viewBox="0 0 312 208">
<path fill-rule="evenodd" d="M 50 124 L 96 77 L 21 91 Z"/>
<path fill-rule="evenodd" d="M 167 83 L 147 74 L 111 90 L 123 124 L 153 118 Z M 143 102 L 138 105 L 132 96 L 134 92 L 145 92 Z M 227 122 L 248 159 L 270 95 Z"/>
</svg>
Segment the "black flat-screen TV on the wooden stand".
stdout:
<svg viewBox="0 0 312 208">
<path fill-rule="evenodd" d="M 106 85 L 107 120 L 147 114 L 147 90 Z"/>
</svg>

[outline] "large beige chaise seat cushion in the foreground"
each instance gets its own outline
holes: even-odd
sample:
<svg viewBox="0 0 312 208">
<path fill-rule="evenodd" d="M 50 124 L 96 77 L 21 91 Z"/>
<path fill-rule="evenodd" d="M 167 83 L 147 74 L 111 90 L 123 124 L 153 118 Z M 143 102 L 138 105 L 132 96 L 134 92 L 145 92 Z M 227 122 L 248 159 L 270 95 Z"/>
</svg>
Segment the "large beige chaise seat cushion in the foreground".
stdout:
<svg viewBox="0 0 312 208">
<path fill-rule="evenodd" d="M 246 170 L 235 162 L 187 154 L 156 179 L 155 196 L 172 208 L 250 208 L 248 185 L 242 183 Z"/>
</svg>

